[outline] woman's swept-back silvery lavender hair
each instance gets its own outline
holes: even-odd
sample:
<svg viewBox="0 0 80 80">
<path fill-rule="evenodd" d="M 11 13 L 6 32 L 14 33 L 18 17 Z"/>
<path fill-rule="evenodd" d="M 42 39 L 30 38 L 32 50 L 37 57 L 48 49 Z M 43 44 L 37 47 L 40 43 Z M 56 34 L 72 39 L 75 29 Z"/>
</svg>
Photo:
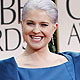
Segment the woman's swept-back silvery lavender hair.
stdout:
<svg viewBox="0 0 80 80">
<path fill-rule="evenodd" d="M 26 18 L 26 14 L 29 10 L 32 9 L 41 9 L 47 12 L 51 17 L 53 24 L 56 24 L 58 19 L 58 10 L 55 3 L 51 0 L 28 0 L 25 3 L 22 10 L 22 20 Z"/>
</svg>

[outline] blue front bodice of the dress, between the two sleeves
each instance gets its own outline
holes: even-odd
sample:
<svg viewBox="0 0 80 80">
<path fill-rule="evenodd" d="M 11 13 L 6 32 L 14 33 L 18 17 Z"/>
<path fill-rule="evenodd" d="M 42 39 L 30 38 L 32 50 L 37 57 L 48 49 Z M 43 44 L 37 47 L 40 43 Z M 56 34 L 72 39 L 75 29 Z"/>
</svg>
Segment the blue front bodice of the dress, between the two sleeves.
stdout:
<svg viewBox="0 0 80 80">
<path fill-rule="evenodd" d="M 19 69 L 20 80 L 75 80 L 73 68 L 68 68 L 65 64 L 38 69 Z"/>
</svg>

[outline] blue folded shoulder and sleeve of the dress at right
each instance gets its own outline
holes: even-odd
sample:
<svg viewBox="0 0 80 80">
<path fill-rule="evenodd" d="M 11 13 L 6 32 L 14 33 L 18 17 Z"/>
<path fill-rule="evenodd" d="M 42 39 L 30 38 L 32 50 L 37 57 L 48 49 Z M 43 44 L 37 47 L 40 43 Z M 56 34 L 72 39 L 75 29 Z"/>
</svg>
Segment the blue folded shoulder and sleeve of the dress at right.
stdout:
<svg viewBox="0 0 80 80">
<path fill-rule="evenodd" d="M 80 80 L 80 53 L 76 52 L 62 52 L 60 54 L 66 55 L 72 58 L 74 71 L 75 71 L 75 78 L 76 80 Z"/>
</svg>

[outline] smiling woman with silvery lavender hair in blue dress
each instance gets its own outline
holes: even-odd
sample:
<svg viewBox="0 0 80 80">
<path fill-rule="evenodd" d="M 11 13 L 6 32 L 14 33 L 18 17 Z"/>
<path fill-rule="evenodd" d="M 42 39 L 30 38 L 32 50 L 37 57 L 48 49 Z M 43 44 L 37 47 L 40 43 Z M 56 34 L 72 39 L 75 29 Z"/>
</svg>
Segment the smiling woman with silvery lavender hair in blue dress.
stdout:
<svg viewBox="0 0 80 80">
<path fill-rule="evenodd" d="M 80 79 L 80 54 L 52 54 L 48 49 L 57 29 L 57 17 L 56 6 L 51 0 L 29 0 L 25 4 L 21 25 L 27 47 L 17 59 L 0 62 L 1 80 Z"/>
</svg>

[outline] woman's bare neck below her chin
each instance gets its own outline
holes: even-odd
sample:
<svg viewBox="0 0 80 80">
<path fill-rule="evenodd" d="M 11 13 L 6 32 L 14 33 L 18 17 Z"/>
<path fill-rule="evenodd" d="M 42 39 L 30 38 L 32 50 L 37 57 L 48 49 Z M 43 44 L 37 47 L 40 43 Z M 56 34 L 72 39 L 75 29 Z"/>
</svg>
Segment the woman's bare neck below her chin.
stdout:
<svg viewBox="0 0 80 80">
<path fill-rule="evenodd" d="M 39 49 L 39 50 L 34 50 L 30 47 L 27 47 L 24 52 L 24 56 L 31 56 L 34 58 L 37 58 L 37 57 L 45 58 L 45 57 L 49 56 L 49 53 L 50 53 L 50 51 L 48 49 L 48 46 L 46 46 L 42 49 Z"/>
</svg>

